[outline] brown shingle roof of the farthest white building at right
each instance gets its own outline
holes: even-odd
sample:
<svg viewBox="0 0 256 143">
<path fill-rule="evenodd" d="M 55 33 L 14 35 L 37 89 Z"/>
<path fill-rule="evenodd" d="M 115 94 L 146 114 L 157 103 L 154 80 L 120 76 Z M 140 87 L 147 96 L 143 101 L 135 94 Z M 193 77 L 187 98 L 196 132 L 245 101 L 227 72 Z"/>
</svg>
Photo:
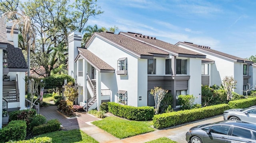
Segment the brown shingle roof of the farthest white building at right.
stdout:
<svg viewBox="0 0 256 143">
<path fill-rule="evenodd" d="M 188 42 L 178 42 L 178 43 L 182 43 L 182 44 L 185 44 L 185 45 L 189 45 L 189 46 L 192 46 L 192 47 L 195 47 L 197 49 L 199 49 L 200 51 L 208 51 L 210 53 L 213 53 L 213 54 L 216 54 L 216 55 L 220 55 L 220 56 L 223 56 L 223 57 L 227 57 L 227 58 L 230 58 L 230 59 L 233 59 L 233 60 L 236 60 L 236 61 L 248 61 L 248 62 L 252 62 L 250 60 L 247 60 L 247 59 L 242 59 L 240 57 L 236 57 L 236 56 L 233 56 L 233 55 L 229 55 L 229 54 L 226 54 L 226 53 L 222 53 L 220 51 L 216 51 L 216 50 L 213 50 L 211 49 L 210 47 L 208 46 L 203 46 L 203 45 L 196 45 L 194 43 L 188 43 Z"/>
</svg>

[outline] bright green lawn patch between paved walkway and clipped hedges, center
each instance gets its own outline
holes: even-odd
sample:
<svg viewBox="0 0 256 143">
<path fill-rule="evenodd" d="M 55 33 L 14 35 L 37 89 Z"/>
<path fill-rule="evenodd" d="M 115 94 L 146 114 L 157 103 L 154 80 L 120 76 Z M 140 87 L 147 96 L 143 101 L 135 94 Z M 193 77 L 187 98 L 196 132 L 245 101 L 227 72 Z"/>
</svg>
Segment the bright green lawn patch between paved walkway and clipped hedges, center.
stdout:
<svg viewBox="0 0 256 143">
<path fill-rule="evenodd" d="M 152 121 L 130 121 L 114 116 L 93 121 L 92 123 L 120 139 L 155 130 L 150 127 L 152 125 Z"/>
</svg>

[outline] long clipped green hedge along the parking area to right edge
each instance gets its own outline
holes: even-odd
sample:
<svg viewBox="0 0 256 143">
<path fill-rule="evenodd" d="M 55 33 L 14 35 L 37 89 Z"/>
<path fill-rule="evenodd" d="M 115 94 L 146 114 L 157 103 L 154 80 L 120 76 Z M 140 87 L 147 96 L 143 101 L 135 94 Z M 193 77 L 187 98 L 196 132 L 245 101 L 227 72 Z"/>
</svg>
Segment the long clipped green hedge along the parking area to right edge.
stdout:
<svg viewBox="0 0 256 143">
<path fill-rule="evenodd" d="M 157 129 L 163 129 L 166 127 L 180 125 L 182 123 L 221 115 L 225 110 L 231 108 L 247 108 L 254 105 L 256 105 L 255 97 L 230 101 L 228 104 L 218 104 L 192 110 L 181 110 L 177 112 L 158 114 L 153 117 L 153 125 Z"/>
</svg>

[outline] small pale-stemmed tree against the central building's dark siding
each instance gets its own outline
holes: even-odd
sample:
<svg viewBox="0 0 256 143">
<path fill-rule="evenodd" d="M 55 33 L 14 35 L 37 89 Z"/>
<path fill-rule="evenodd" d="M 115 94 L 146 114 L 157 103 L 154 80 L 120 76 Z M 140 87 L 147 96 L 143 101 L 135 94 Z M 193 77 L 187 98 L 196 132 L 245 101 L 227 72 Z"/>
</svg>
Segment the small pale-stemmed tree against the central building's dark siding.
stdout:
<svg viewBox="0 0 256 143">
<path fill-rule="evenodd" d="M 158 114 L 161 101 L 164 99 L 164 96 L 167 92 L 168 90 L 164 90 L 160 87 L 154 87 L 154 89 L 151 89 L 150 94 L 152 94 L 155 99 L 156 114 Z"/>
</svg>

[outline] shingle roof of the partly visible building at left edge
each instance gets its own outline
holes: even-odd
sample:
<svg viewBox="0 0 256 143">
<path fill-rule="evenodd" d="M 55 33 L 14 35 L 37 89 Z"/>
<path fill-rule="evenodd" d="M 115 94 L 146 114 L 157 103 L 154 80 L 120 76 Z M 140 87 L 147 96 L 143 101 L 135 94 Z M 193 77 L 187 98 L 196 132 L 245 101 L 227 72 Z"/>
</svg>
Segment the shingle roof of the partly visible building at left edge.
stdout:
<svg viewBox="0 0 256 143">
<path fill-rule="evenodd" d="M 0 43 L 7 44 L 6 51 L 8 52 L 8 68 L 25 69 L 28 65 L 24 55 L 19 48 L 15 48 L 12 41 L 7 40 L 6 24 L 4 19 L 0 18 Z M 18 39 L 17 39 L 18 40 Z"/>
</svg>

